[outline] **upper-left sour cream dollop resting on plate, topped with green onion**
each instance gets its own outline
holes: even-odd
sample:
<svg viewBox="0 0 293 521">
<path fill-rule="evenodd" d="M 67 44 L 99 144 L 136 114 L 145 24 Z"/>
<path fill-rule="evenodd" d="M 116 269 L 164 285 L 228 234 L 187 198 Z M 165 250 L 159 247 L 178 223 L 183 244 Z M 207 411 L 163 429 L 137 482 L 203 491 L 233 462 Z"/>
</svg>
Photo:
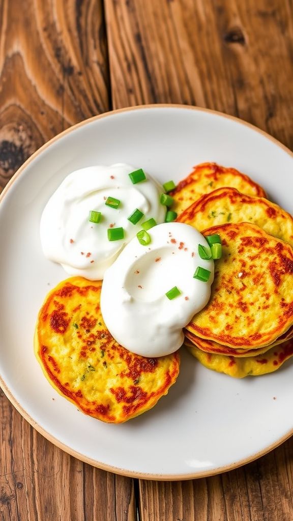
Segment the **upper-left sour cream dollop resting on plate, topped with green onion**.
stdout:
<svg viewBox="0 0 293 521">
<path fill-rule="evenodd" d="M 146 180 L 132 184 L 128 174 L 136 168 L 118 163 L 76 170 L 59 185 L 46 204 L 40 225 L 44 255 L 60 263 L 69 275 L 99 280 L 119 252 L 141 229 L 140 222 L 153 217 L 165 220 L 160 204 L 160 183 Z M 120 201 L 117 209 L 106 206 L 107 197 Z M 138 208 L 144 216 L 137 225 L 128 217 Z M 99 224 L 89 221 L 90 210 L 101 212 Z M 124 239 L 109 241 L 108 228 L 124 228 Z"/>
</svg>

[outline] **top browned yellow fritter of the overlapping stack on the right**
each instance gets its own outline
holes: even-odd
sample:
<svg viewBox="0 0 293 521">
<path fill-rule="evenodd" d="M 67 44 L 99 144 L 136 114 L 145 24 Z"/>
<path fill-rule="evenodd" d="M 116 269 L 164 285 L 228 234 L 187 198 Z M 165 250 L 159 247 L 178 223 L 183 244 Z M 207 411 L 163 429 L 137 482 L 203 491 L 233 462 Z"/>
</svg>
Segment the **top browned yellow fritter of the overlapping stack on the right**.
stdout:
<svg viewBox="0 0 293 521">
<path fill-rule="evenodd" d="M 214 226 L 203 232 L 216 233 L 222 238 L 223 256 L 215 264 L 212 296 L 187 329 L 231 348 L 271 344 L 293 323 L 293 250 L 248 223 Z M 208 326 L 203 327 L 204 322 Z"/>
</svg>

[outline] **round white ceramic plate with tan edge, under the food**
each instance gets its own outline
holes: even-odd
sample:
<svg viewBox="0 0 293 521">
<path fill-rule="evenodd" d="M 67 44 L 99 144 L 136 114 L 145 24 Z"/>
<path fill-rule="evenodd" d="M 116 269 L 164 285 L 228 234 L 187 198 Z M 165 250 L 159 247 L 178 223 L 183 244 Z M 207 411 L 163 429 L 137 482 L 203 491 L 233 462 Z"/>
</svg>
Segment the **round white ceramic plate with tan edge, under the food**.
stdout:
<svg viewBox="0 0 293 521">
<path fill-rule="evenodd" d="M 292 213 L 293 155 L 235 118 L 185 106 L 125 109 L 85 121 L 36 152 L 0 204 L 0 381 L 46 438 L 97 467 L 146 479 L 187 479 L 247 463 L 293 433 L 293 364 L 236 380 L 182 350 L 180 375 L 149 412 L 122 425 L 87 417 L 55 392 L 33 354 L 36 315 L 67 278 L 41 252 L 42 209 L 64 177 L 94 164 L 129 163 L 165 182 L 215 161 L 262 184 Z"/>
</svg>

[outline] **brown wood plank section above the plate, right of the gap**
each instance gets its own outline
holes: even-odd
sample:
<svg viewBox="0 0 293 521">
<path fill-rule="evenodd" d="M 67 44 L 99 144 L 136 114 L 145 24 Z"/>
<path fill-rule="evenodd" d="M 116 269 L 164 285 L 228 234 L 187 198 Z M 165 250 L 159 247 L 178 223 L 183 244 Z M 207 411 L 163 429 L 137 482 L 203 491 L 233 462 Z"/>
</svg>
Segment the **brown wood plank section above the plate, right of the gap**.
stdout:
<svg viewBox="0 0 293 521">
<path fill-rule="evenodd" d="M 293 147 L 290 0 L 105 0 L 113 108 L 184 103 Z"/>
</svg>

